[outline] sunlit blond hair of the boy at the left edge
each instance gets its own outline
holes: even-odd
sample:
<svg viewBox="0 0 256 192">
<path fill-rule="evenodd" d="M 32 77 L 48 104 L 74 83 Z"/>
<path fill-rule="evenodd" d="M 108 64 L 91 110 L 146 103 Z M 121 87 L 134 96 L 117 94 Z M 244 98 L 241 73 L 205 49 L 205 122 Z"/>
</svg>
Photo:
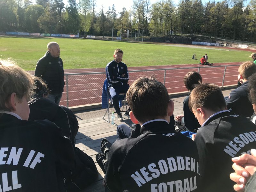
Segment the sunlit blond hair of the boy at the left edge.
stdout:
<svg viewBox="0 0 256 192">
<path fill-rule="evenodd" d="M 5 106 L 13 92 L 21 100 L 25 95 L 28 100 L 33 93 L 32 76 L 11 60 L 0 60 L 0 109 L 10 110 Z"/>
</svg>

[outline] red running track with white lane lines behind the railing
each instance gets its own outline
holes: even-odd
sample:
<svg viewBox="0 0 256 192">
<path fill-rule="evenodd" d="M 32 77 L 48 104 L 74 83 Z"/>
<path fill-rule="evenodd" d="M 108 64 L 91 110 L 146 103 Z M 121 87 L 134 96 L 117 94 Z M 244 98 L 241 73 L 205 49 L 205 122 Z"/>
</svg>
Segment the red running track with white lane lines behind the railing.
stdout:
<svg viewBox="0 0 256 192">
<path fill-rule="evenodd" d="M 188 67 L 201 67 L 200 74 L 203 78 L 203 82 L 217 84 L 222 86 L 224 68 L 226 65 L 236 65 L 241 64 L 242 62 L 233 62 L 233 63 L 216 63 L 213 66 L 218 66 L 212 68 L 211 66 L 202 66 L 199 64 L 185 64 L 185 65 L 169 65 L 169 66 L 146 66 L 146 67 L 128 67 L 129 70 L 129 84 L 131 84 L 135 79 L 140 76 L 149 76 L 154 75 L 156 78 L 164 82 L 164 70 L 159 71 L 147 71 L 147 72 L 132 72 L 133 70 L 140 69 L 172 69 L 179 68 L 175 70 L 167 70 L 165 75 L 165 87 L 169 93 L 174 92 L 183 92 L 187 91 L 184 84 L 183 78 L 189 71 L 197 71 L 195 69 L 184 69 Z M 232 66 L 227 67 L 224 84 L 231 85 L 236 84 L 238 67 Z M 88 72 L 105 72 L 105 68 L 95 68 L 95 69 L 66 69 L 64 70 L 65 74 L 68 73 L 88 73 Z M 66 78 L 64 77 L 65 81 Z M 68 106 L 78 106 L 92 103 L 101 102 L 101 94 L 103 82 L 106 79 L 105 74 L 95 74 L 95 75 L 72 75 L 68 76 Z M 64 92 L 60 101 L 61 105 L 67 105 L 67 89 L 66 82 L 64 87 Z"/>
</svg>

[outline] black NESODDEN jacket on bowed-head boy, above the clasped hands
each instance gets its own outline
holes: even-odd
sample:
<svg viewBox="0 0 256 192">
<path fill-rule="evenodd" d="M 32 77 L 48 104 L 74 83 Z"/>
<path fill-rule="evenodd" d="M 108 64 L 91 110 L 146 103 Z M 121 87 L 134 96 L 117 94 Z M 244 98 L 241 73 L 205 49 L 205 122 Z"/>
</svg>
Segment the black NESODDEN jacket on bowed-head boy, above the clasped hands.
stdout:
<svg viewBox="0 0 256 192">
<path fill-rule="evenodd" d="M 250 153 L 256 146 L 256 125 L 240 115 L 223 111 L 198 129 L 195 138 L 199 153 L 202 191 L 234 191 L 229 179 L 232 157 Z"/>
</svg>

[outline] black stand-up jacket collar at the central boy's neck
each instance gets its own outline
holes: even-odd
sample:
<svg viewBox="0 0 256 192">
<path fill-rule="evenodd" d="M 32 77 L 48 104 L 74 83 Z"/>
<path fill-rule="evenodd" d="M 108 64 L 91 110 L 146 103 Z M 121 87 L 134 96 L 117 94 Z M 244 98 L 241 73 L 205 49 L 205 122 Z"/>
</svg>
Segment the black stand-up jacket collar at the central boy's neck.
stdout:
<svg viewBox="0 0 256 192">
<path fill-rule="evenodd" d="M 169 124 L 165 120 L 157 119 L 156 121 L 146 122 L 146 124 L 141 125 L 140 133 L 141 134 L 152 134 L 152 133 L 166 133 L 174 132 L 170 129 Z"/>
</svg>

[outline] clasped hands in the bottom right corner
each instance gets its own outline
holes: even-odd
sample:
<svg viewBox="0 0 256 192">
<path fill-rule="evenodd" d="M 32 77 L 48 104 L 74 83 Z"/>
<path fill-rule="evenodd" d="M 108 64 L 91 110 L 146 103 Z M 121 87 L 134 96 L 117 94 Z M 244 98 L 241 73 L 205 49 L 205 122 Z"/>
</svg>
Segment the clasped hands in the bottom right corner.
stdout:
<svg viewBox="0 0 256 192">
<path fill-rule="evenodd" d="M 237 192 L 243 192 L 246 182 L 256 171 L 256 150 L 252 149 L 251 154 L 243 154 L 239 157 L 232 158 L 233 169 L 235 173 L 230 174 L 230 179 L 236 182 L 234 189 Z"/>
</svg>

